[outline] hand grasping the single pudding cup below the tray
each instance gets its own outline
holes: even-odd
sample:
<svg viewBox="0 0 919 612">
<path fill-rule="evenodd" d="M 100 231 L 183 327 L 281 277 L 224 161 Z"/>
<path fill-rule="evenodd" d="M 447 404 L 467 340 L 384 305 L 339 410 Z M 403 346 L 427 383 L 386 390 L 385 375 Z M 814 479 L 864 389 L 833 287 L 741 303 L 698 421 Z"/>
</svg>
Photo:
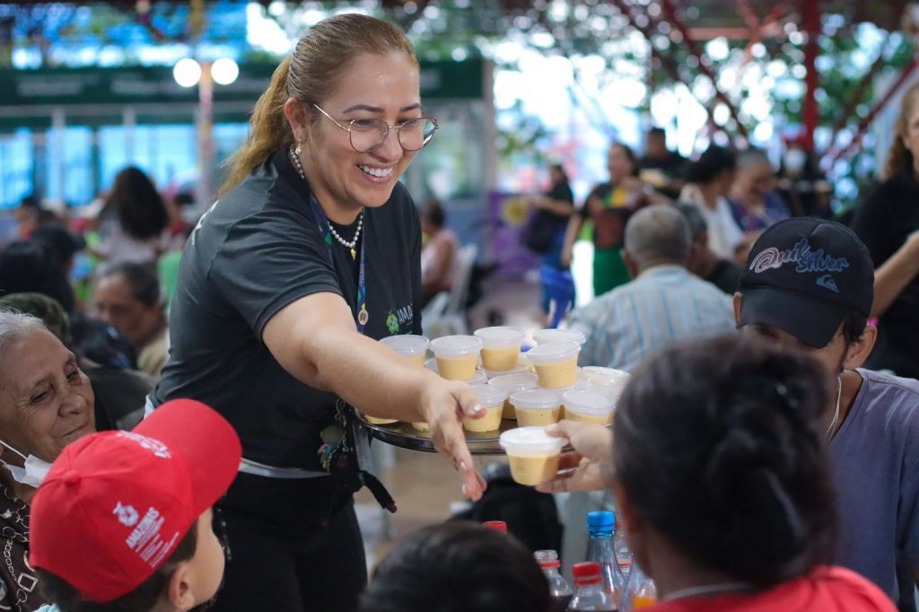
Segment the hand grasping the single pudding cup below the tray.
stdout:
<svg viewBox="0 0 919 612">
<path fill-rule="evenodd" d="M 573 452 L 562 454 L 559 470 L 570 470 L 536 487 L 542 493 L 596 491 L 609 486 L 613 463 L 613 432 L 607 427 L 562 421 L 546 427 L 550 436 L 563 437 Z"/>
</svg>

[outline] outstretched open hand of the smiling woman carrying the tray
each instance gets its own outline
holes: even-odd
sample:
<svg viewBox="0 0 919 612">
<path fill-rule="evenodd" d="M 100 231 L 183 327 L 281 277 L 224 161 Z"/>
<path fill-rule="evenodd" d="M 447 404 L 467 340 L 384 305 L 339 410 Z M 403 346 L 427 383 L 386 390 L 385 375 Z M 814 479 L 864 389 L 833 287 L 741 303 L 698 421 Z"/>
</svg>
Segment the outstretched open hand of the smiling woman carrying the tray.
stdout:
<svg viewBox="0 0 919 612">
<path fill-rule="evenodd" d="M 464 382 L 431 377 L 423 399 L 427 425 L 437 452 L 446 457 L 462 477 L 462 492 L 472 501 L 482 498 L 485 481 L 472 465 L 462 430 L 463 416 L 482 418 L 485 410 L 472 388 Z"/>
</svg>

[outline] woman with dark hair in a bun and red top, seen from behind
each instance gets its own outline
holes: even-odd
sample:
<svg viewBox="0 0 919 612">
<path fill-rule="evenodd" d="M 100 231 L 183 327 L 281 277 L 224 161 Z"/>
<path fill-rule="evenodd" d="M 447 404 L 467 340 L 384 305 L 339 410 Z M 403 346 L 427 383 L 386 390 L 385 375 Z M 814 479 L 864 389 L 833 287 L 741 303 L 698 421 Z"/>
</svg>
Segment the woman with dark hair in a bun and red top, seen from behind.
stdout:
<svg viewBox="0 0 919 612">
<path fill-rule="evenodd" d="M 635 561 L 657 586 L 654 612 L 892 611 L 868 580 L 828 565 L 828 401 L 820 365 L 799 353 L 738 336 L 675 346 L 632 375 L 615 446 L 557 428 L 590 456 L 566 460 L 581 464 L 573 482 L 542 488 L 586 486 L 592 465 L 607 474 Z"/>
</svg>

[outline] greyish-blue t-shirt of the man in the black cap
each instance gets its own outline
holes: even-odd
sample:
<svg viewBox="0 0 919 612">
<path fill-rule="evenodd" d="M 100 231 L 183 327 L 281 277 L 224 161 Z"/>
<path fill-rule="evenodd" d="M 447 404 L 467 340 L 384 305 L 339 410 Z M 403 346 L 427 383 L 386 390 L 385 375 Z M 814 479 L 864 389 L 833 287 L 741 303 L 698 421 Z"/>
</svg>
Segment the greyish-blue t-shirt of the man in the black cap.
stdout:
<svg viewBox="0 0 919 612">
<path fill-rule="evenodd" d="M 864 382 L 830 444 L 836 562 L 897 601 L 897 561 L 919 567 L 919 381 L 858 373 Z M 912 584 L 904 586 L 912 593 Z"/>
</svg>

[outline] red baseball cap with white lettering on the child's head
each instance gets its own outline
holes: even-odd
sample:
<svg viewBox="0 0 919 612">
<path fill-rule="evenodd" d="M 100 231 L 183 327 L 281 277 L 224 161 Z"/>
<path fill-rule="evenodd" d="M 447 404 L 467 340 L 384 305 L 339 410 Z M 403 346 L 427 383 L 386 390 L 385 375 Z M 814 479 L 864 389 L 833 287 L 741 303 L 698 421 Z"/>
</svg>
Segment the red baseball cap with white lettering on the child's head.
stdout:
<svg viewBox="0 0 919 612">
<path fill-rule="evenodd" d="M 33 567 L 105 603 L 169 559 L 230 487 L 242 447 L 201 402 L 165 402 L 133 431 L 80 438 L 54 461 L 31 505 Z"/>
</svg>

